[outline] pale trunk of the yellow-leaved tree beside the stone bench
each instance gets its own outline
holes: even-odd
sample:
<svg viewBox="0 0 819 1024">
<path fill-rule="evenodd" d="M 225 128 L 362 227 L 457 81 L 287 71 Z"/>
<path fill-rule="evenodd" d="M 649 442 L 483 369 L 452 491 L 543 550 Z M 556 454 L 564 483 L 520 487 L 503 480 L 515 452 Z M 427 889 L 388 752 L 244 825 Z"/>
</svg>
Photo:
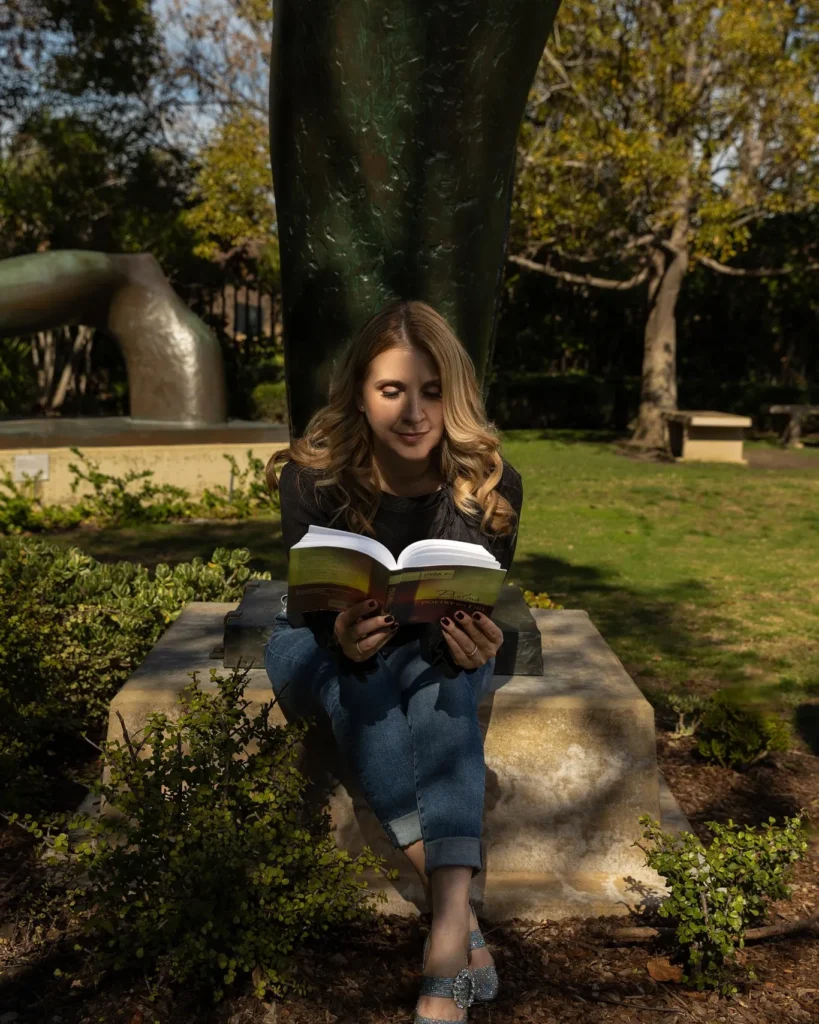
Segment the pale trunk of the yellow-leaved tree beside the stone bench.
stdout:
<svg viewBox="0 0 819 1024">
<path fill-rule="evenodd" d="M 648 319 L 644 334 L 640 418 L 632 440 L 643 447 L 666 449 L 664 411 L 677 409 L 677 299 L 688 269 L 688 227 L 678 224 L 672 236 L 675 252 L 655 249 L 648 286 Z"/>
</svg>

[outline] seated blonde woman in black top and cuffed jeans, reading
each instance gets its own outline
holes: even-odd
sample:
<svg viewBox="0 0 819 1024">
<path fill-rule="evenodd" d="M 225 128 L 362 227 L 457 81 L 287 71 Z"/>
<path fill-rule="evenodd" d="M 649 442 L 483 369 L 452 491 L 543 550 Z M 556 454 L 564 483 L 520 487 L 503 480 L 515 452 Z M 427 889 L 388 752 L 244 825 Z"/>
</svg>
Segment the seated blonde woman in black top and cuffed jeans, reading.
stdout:
<svg viewBox="0 0 819 1024">
<path fill-rule="evenodd" d="M 469 355 L 423 302 L 395 301 L 344 353 L 329 403 L 267 467 L 285 548 L 310 523 L 375 537 L 483 545 L 512 563 L 523 498 L 500 454 Z M 285 463 L 281 479 L 275 468 Z M 469 901 L 483 866 L 483 743 L 477 708 L 501 630 L 485 615 L 398 627 L 375 602 L 276 616 L 265 666 L 289 718 L 326 715 L 432 911 L 416 1024 L 465 1021 L 498 978 Z"/>
</svg>

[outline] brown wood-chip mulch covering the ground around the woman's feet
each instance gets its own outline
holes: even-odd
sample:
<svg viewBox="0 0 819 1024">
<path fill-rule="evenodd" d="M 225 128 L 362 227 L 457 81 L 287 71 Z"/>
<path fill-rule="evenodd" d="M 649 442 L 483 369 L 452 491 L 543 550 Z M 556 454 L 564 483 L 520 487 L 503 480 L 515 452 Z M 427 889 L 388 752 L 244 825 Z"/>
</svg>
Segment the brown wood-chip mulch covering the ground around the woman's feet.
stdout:
<svg viewBox="0 0 819 1024">
<path fill-rule="evenodd" d="M 691 740 L 658 738 L 660 767 L 694 830 L 732 818 L 761 823 L 804 808 L 816 820 L 819 758 L 788 752 L 739 774 L 696 759 Z M 2 852 L 0 836 L 0 852 Z M 7 837 L 6 837 L 7 839 Z M 793 873 L 793 898 L 771 909 L 777 923 L 819 906 L 819 843 Z M 2 907 L 0 907 L 0 914 Z M 616 924 L 638 924 L 617 919 Z M 498 1000 L 475 1005 L 475 1024 L 816 1024 L 819 1021 L 819 940 L 790 936 L 749 945 L 744 959 L 758 979 L 737 996 L 690 991 L 655 981 L 669 950 L 658 944 L 618 946 L 602 933 L 611 919 L 538 925 L 487 925 L 501 975 Z M 28 967 L 0 973 L 2 1024 L 411 1024 L 426 927 L 423 921 L 385 918 L 305 950 L 300 973 L 313 986 L 306 996 L 264 1005 L 239 995 L 208 1007 L 182 992 L 163 991 L 152 1004 L 137 974 L 95 979 L 92 966 L 69 983 L 53 977 L 62 963 L 53 951 Z M 0 924 L 0 935 L 3 934 Z M 13 964 L 13 948 L 5 962 Z M 71 954 L 63 954 L 70 959 Z M 75 964 L 76 968 L 76 964 Z M 9 1017 L 8 1014 L 17 1014 Z"/>
</svg>

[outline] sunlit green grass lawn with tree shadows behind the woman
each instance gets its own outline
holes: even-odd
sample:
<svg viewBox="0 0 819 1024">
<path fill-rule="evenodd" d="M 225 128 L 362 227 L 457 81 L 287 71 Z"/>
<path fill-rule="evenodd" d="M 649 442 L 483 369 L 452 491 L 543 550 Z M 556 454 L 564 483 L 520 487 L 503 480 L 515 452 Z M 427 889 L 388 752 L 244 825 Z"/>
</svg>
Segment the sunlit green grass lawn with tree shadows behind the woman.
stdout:
<svg viewBox="0 0 819 1024">
<path fill-rule="evenodd" d="M 588 610 L 642 686 L 730 685 L 775 703 L 819 694 L 819 451 L 785 469 L 680 465 L 510 431 L 505 454 L 524 484 L 510 580 Z M 254 567 L 286 572 L 275 519 L 52 540 L 146 564 L 247 547 Z"/>
</svg>

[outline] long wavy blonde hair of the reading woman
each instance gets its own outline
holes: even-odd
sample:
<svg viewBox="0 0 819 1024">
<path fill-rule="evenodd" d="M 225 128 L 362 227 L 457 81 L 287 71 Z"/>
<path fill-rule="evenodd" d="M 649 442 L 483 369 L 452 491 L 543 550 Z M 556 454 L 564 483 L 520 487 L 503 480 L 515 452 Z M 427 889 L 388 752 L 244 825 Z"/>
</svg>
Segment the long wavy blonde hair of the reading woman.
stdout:
<svg viewBox="0 0 819 1024">
<path fill-rule="evenodd" d="M 371 361 L 388 348 L 426 352 L 437 367 L 443 401 L 443 434 L 432 451 L 451 484 L 457 508 L 484 534 L 506 535 L 516 514 L 495 490 L 503 474 L 500 433 L 486 417 L 475 367 L 449 325 L 425 302 L 395 300 L 367 322 L 339 357 L 331 376 L 329 402 L 313 415 L 304 436 L 267 463 L 271 490 L 276 466 L 286 462 L 320 470 L 317 487 L 338 487 L 347 528 L 374 535 L 381 492 L 374 482 L 372 431 L 357 398 Z"/>
</svg>

